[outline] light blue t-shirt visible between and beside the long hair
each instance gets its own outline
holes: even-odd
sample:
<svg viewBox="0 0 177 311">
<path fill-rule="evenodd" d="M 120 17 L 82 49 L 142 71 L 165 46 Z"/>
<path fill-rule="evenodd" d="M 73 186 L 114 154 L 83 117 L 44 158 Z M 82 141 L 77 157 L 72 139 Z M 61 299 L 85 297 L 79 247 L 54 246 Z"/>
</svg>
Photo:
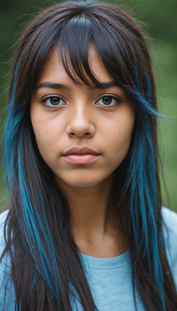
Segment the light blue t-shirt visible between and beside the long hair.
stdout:
<svg viewBox="0 0 177 311">
<path fill-rule="evenodd" d="M 0 255 L 4 249 L 3 237 L 4 221 L 8 211 L 0 214 Z M 177 287 L 177 214 L 169 209 L 162 208 L 164 221 L 163 231 L 166 244 L 168 262 Z M 96 307 L 99 311 L 135 311 L 133 298 L 133 287 L 131 280 L 131 262 L 129 251 L 113 258 L 95 258 L 80 254 L 83 259 L 85 274 Z M 10 260 L 8 256 L 3 258 L 0 264 L 0 311 L 4 305 L 4 271 L 6 267 L 6 280 L 10 273 Z M 6 283 L 5 280 L 5 283 Z M 135 289 L 137 310 L 144 311 L 144 307 L 139 299 L 138 291 Z M 8 283 L 7 297 L 5 301 L 6 311 L 15 311 L 15 292 L 13 281 Z M 82 311 L 81 305 L 77 302 L 77 308 L 73 305 L 73 311 Z"/>
</svg>

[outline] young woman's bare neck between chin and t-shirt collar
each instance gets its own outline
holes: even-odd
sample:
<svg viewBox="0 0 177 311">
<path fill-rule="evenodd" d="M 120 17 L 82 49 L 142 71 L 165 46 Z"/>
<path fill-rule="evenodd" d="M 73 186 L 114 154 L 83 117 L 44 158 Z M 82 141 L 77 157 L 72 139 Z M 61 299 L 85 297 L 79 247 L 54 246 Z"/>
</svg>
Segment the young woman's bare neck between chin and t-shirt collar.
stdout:
<svg viewBox="0 0 177 311">
<path fill-rule="evenodd" d="M 127 247 L 116 217 L 113 174 L 91 187 L 58 182 L 68 199 L 71 228 L 79 252 L 103 258 L 124 253 Z"/>
</svg>

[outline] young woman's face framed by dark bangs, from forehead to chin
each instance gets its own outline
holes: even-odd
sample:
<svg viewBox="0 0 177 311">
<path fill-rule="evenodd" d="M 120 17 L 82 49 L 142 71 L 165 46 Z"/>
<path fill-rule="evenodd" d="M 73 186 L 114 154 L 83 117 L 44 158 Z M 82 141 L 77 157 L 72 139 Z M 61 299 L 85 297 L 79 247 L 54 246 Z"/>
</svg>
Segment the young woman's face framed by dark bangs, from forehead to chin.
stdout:
<svg viewBox="0 0 177 311">
<path fill-rule="evenodd" d="M 75 187 L 93 186 L 113 173 L 129 150 L 135 122 L 126 92 L 113 83 L 93 46 L 89 59 L 101 88 L 75 84 L 54 50 L 30 107 L 42 158 L 58 181 Z"/>
</svg>

